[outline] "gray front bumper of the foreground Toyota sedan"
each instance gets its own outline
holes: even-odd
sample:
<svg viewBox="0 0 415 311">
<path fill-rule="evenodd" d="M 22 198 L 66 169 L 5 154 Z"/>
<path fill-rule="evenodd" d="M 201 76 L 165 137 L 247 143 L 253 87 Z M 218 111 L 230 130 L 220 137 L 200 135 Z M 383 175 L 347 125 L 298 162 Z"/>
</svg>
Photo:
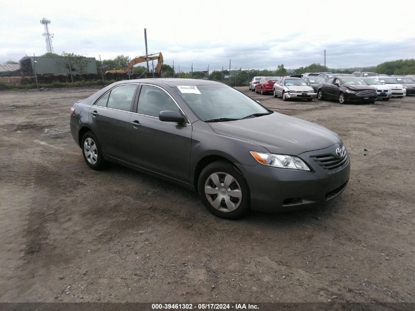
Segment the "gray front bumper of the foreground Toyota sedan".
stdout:
<svg viewBox="0 0 415 311">
<path fill-rule="evenodd" d="M 335 144 L 299 155 L 312 171 L 279 169 L 261 164 L 253 167 L 236 164 L 248 182 L 251 209 L 266 212 L 295 210 L 337 197 L 348 184 L 350 159 L 338 170 L 327 172 L 310 158 L 316 153 L 332 154 L 337 146 Z"/>
</svg>

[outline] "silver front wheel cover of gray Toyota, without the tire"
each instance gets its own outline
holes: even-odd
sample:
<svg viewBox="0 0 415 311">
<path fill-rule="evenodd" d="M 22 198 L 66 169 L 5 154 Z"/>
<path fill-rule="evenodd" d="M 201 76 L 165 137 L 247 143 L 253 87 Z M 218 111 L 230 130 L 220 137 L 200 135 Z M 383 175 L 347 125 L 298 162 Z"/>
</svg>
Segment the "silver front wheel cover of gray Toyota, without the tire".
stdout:
<svg viewBox="0 0 415 311">
<path fill-rule="evenodd" d="M 233 212 L 242 202 L 240 184 L 226 172 L 210 174 L 205 181 L 204 192 L 209 203 L 221 212 Z"/>
</svg>

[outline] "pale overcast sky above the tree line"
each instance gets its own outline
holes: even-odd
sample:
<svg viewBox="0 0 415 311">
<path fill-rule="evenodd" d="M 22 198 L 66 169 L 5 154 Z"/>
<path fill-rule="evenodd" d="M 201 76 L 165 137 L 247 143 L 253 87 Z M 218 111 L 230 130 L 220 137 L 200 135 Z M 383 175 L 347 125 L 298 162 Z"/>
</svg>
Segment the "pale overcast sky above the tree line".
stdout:
<svg viewBox="0 0 415 311">
<path fill-rule="evenodd" d="M 415 58 L 415 0 L 0 0 L 0 63 L 54 52 L 99 59 L 162 52 L 181 71 L 311 63 L 360 67 Z"/>
</svg>

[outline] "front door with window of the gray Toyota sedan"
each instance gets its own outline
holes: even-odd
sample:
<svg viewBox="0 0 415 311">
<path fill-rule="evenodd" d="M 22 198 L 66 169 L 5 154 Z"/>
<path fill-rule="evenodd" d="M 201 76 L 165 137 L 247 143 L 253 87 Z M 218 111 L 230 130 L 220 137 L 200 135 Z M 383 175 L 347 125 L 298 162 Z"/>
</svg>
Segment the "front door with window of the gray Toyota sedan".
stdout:
<svg viewBox="0 0 415 311">
<path fill-rule="evenodd" d="M 165 89 L 141 85 L 137 113 L 130 118 L 132 163 L 189 182 L 192 125 L 160 121 L 161 111 L 181 111 Z M 187 120 L 187 119 L 186 119 Z"/>
</svg>

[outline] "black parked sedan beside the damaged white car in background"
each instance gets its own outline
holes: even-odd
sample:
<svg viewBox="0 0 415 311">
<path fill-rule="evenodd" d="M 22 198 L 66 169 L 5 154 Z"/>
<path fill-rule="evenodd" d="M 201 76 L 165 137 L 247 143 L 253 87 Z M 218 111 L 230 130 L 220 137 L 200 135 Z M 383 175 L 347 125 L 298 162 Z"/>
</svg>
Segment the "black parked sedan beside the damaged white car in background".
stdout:
<svg viewBox="0 0 415 311">
<path fill-rule="evenodd" d="M 359 78 L 333 77 L 318 85 L 317 98 L 336 99 L 340 104 L 347 102 L 374 104 L 377 91 L 375 87 Z"/>
</svg>

